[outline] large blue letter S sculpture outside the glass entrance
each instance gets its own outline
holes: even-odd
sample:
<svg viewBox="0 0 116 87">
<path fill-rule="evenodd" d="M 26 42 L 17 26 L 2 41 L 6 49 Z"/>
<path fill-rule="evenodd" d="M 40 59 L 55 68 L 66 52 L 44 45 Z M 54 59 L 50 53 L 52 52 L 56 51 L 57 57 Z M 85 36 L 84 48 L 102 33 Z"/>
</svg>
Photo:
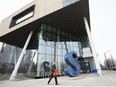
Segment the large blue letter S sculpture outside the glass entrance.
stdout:
<svg viewBox="0 0 116 87">
<path fill-rule="evenodd" d="M 80 74 L 80 65 L 75 59 L 78 58 L 77 53 L 67 52 L 64 56 L 65 62 L 69 65 L 64 68 L 64 73 L 71 77 L 76 77 Z"/>
</svg>

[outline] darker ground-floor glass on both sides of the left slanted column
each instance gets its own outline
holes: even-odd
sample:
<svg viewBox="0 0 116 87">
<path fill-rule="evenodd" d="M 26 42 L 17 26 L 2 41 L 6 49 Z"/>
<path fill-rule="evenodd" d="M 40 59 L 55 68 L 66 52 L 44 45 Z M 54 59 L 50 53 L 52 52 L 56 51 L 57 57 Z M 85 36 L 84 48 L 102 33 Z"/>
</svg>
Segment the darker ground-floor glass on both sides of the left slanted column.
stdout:
<svg viewBox="0 0 116 87">
<path fill-rule="evenodd" d="M 22 48 L 6 44 L 0 56 L 0 75 L 2 77 L 7 78 L 11 75 L 21 54 L 21 51 Z M 36 76 L 37 52 L 38 48 L 28 48 L 25 51 L 23 60 L 18 69 L 18 74 L 20 73 L 20 75 L 26 75 L 30 77 Z"/>
</svg>

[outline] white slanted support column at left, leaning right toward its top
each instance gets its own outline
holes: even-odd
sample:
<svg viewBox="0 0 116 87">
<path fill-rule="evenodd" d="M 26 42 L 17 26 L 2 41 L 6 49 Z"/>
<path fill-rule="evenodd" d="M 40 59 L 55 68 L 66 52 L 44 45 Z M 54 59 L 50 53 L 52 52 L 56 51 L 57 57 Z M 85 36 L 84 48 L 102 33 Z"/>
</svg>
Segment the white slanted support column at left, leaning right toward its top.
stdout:
<svg viewBox="0 0 116 87">
<path fill-rule="evenodd" d="M 10 80 L 15 80 L 15 77 L 17 76 L 17 71 L 18 71 L 19 66 L 20 66 L 20 64 L 21 64 L 21 62 L 22 62 L 22 59 L 23 59 L 23 56 L 24 56 L 24 52 L 25 52 L 26 49 L 27 49 L 27 46 L 28 46 L 28 44 L 29 44 L 29 42 L 30 42 L 30 39 L 31 39 L 31 37 L 32 37 L 32 34 L 33 34 L 33 31 L 30 32 L 30 34 L 29 34 L 29 36 L 28 36 L 28 38 L 27 38 L 27 40 L 26 40 L 26 43 L 25 43 L 25 45 L 24 45 L 24 47 L 23 47 L 23 50 L 22 50 L 22 52 L 21 52 L 21 54 L 20 54 L 20 56 L 19 56 L 19 59 L 18 59 L 18 61 L 17 61 L 17 64 L 16 64 L 16 66 L 15 66 L 15 68 L 14 68 L 14 70 L 13 70 L 11 76 L 10 76 Z"/>
</svg>

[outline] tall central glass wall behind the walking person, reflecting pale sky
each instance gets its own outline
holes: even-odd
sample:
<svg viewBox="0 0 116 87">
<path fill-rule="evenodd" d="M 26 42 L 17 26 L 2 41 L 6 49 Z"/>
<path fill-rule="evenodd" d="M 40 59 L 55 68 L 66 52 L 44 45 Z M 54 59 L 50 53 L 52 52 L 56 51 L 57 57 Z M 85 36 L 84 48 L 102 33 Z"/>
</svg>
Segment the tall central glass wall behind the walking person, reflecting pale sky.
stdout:
<svg viewBox="0 0 116 87">
<path fill-rule="evenodd" d="M 38 32 L 38 60 L 37 60 L 37 77 L 46 77 L 50 75 L 50 67 L 56 62 L 56 68 L 59 74 L 63 74 L 64 67 L 67 64 L 64 61 L 66 54 L 65 43 L 68 51 L 76 51 L 80 56 L 81 49 L 76 36 L 56 29 L 46 24 L 41 25 L 41 31 Z"/>
</svg>

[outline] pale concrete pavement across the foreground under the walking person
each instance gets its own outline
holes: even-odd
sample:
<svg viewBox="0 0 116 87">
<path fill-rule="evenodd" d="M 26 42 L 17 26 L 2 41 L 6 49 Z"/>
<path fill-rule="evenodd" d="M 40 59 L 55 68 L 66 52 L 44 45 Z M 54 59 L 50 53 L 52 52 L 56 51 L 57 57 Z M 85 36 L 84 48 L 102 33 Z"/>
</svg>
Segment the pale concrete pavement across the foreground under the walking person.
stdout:
<svg viewBox="0 0 116 87">
<path fill-rule="evenodd" d="M 54 79 L 47 85 L 46 79 L 28 79 L 15 81 L 0 81 L 0 87 L 92 87 L 92 86 L 114 86 L 116 87 L 116 71 L 103 71 L 102 76 L 94 73 L 80 74 L 78 77 L 58 77 L 59 85 L 55 85 Z"/>
</svg>

